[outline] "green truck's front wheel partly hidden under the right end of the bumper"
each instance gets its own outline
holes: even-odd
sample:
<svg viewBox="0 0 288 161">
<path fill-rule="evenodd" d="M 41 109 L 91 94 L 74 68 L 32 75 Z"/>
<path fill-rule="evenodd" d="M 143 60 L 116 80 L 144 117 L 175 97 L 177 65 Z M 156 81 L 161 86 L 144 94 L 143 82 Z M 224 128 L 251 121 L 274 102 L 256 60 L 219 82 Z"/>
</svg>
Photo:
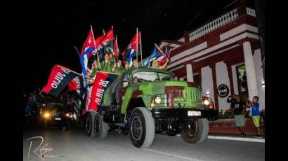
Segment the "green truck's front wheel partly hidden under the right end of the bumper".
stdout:
<svg viewBox="0 0 288 161">
<path fill-rule="evenodd" d="M 194 123 L 195 132 L 191 134 L 188 129 L 181 131 L 183 141 L 188 144 L 202 144 L 206 141 L 209 132 L 209 124 L 207 118 L 197 119 Z"/>
</svg>

